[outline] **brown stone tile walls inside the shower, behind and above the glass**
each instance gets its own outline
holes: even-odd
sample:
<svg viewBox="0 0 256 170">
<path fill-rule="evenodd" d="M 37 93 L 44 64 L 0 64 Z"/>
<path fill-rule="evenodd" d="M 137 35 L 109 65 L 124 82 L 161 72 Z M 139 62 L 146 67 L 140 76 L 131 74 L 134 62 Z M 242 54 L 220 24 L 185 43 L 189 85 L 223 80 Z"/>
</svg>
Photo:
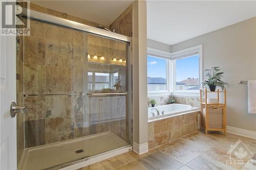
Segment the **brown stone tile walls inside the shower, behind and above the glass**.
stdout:
<svg viewBox="0 0 256 170">
<path fill-rule="evenodd" d="M 32 3 L 31 9 L 93 27 L 99 25 L 96 22 Z M 132 35 L 132 6 L 113 23 L 117 24 L 112 26 L 112 29 L 114 27 L 115 29 L 120 28 L 120 34 Z M 108 26 L 104 27 L 109 28 Z M 91 67 L 95 70 L 104 69 L 103 67 L 95 67 L 93 63 L 88 64 L 87 58 L 82 63 L 82 57 L 87 56 L 86 52 L 88 52 L 98 56 L 104 55 L 105 59 L 108 60 L 109 55 L 114 54 L 116 48 L 116 43 L 113 40 L 113 42 L 111 40 L 105 41 L 104 38 L 100 37 L 96 40 L 92 37 L 71 29 L 31 20 L 31 35 L 25 37 L 24 40 L 24 57 L 20 57 L 22 62 L 17 60 L 19 62 L 17 66 L 20 66 L 17 70 L 24 72 L 24 76 L 20 74 L 20 82 L 22 82 L 20 86 L 22 87 L 19 88 L 22 91 L 20 91 L 18 99 L 24 100 L 24 105 L 28 106 L 29 110 L 24 118 L 20 118 L 20 126 L 17 126 L 18 131 L 23 132 L 18 133 L 20 135 L 18 138 L 20 140 L 18 142 L 20 144 L 18 156 L 21 156 L 24 146 L 25 148 L 35 147 L 109 130 L 124 140 L 129 140 L 127 139 L 129 129 L 126 128 L 130 118 L 128 115 L 126 119 L 116 120 L 108 125 L 101 123 L 84 127 L 83 123 L 89 122 L 88 107 L 83 107 L 84 102 L 88 103 L 88 98 L 69 95 L 26 96 L 23 98 L 23 92 L 37 94 L 82 91 L 84 88 L 82 87 L 82 80 L 86 81 L 86 77 L 82 77 L 84 74 L 83 67 Z M 117 50 L 119 58 L 126 56 L 126 53 L 123 53 L 125 50 L 126 47 L 119 43 Z M 125 85 L 123 84 L 123 86 Z M 24 137 L 25 143 L 23 143 Z"/>
</svg>

